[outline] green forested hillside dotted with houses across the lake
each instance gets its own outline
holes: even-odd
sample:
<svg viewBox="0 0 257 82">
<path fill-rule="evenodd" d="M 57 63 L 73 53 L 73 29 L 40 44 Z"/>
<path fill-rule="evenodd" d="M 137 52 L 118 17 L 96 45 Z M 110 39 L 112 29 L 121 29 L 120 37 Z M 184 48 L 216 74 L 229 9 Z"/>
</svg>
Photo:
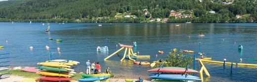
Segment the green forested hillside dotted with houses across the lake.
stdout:
<svg viewBox="0 0 257 82">
<path fill-rule="evenodd" d="M 257 22 L 256 0 L 9 0 L 0 21 Z"/>
</svg>

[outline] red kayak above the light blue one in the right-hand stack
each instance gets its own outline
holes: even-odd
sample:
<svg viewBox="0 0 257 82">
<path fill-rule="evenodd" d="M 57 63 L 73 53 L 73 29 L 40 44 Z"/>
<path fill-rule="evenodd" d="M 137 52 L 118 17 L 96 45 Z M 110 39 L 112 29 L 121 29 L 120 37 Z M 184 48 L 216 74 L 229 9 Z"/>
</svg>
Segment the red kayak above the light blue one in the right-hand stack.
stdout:
<svg viewBox="0 0 257 82">
<path fill-rule="evenodd" d="M 160 69 L 151 69 L 147 70 L 148 72 L 171 72 L 171 73 L 199 73 L 196 70 L 188 69 L 179 69 L 179 68 L 160 68 Z"/>
</svg>

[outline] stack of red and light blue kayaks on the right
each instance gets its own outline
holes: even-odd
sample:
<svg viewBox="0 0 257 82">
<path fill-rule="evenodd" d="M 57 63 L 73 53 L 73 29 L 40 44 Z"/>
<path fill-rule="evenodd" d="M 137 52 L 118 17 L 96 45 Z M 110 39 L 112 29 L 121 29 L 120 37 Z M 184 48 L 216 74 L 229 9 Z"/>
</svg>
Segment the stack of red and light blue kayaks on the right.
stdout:
<svg viewBox="0 0 257 82">
<path fill-rule="evenodd" d="M 161 72 L 149 74 L 151 79 L 162 79 L 171 81 L 201 81 L 199 77 L 192 75 L 185 75 L 185 73 L 199 73 L 193 69 L 185 69 L 181 67 L 163 67 L 147 70 L 148 72 Z"/>
</svg>

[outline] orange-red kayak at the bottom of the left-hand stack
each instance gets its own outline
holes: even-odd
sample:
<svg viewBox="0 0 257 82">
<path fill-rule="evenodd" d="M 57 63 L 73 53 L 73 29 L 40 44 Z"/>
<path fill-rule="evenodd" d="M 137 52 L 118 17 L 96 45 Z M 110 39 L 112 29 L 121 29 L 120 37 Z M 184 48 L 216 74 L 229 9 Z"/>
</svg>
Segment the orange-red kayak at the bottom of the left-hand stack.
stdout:
<svg viewBox="0 0 257 82">
<path fill-rule="evenodd" d="M 47 80 L 47 81 L 72 81 L 73 79 L 71 78 L 64 78 L 64 77 L 40 77 L 38 79 L 41 80 Z"/>
</svg>

